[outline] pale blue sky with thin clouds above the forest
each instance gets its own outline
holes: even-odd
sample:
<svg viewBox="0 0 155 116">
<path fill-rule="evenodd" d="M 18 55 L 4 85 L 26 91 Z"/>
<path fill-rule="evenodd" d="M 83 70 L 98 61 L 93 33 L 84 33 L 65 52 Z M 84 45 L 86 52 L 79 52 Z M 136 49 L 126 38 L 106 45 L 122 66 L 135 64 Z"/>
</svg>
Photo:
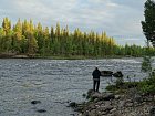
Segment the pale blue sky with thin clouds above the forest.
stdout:
<svg viewBox="0 0 155 116">
<path fill-rule="evenodd" d="M 146 0 L 0 0 L 0 21 L 8 17 L 14 24 L 20 18 L 43 27 L 68 24 L 84 32 L 105 31 L 116 43 L 145 45 L 141 21 Z"/>
</svg>

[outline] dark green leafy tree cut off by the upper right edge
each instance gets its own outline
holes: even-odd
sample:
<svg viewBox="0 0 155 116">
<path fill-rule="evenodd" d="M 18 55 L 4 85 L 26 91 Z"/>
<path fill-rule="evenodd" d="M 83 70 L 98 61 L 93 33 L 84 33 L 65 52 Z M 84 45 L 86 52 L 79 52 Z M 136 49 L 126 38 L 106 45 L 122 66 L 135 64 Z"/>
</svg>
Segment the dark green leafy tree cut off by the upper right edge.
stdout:
<svg viewBox="0 0 155 116">
<path fill-rule="evenodd" d="M 147 0 L 144 6 L 145 21 L 142 21 L 142 29 L 147 39 L 155 46 L 155 1 Z M 148 44 L 147 44 L 148 45 Z"/>
</svg>

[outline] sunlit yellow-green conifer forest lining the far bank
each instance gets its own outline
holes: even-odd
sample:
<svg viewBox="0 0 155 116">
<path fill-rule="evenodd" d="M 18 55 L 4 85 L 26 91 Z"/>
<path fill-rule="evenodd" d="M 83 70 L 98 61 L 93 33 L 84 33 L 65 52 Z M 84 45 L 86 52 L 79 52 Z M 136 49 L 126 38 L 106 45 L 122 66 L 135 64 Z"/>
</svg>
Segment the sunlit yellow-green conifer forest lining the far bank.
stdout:
<svg viewBox="0 0 155 116">
<path fill-rule="evenodd" d="M 83 56 L 113 56 L 145 54 L 155 55 L 154 48 L 138 45 L 117 45 L 106 32 L 101 34 L 91 31 L 89 33 L 75 29 L 69 31 L 68 25 L 43 28 L 41 23 L 33 24 L 32 20 L 23 22 L 19 19 L 14 25 L 4 18 L 0 28 L 0 53 L 38 54 L 48 55 L 83 55 Z"/>
</svg>

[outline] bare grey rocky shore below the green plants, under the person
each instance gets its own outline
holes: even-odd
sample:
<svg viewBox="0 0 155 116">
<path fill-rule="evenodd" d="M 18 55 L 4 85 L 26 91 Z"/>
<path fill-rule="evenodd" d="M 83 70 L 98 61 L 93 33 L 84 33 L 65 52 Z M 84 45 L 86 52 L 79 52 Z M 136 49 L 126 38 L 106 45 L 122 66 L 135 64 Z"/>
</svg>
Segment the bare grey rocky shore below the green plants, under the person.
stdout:
<svg viewBox="0 0 155 116">
<path fill-rule="evenodd" d="M 93 92 L 90 89 L 87 102 L 71 103 L 79 116 L 155 116 L 152 95 L 141 95 L 131 88 L 125 93 Z"/>
</svg>

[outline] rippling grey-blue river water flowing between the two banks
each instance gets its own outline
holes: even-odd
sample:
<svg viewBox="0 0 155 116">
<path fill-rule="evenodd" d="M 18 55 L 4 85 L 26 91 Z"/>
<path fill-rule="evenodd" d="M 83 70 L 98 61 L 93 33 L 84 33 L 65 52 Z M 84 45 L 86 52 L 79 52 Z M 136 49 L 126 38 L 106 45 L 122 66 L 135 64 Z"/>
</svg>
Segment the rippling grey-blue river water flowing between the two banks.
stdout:
<svg viewBox="0 0 155 116">
<path fill-rule="evenodd" d="M 93 87 L 92 71 L 122 71 L 132 80 L 146 77 L 142 59 L 28 60 L 0 59 L 0 116 L 71 116 L 69 102 L 82 102 Z M 101 77 L 100 91 L 111 83 Z M 32 105 L 31 101 L 41 101 Z M 38 113 L 45 109 L 45 113 Z"/>
</svg>

